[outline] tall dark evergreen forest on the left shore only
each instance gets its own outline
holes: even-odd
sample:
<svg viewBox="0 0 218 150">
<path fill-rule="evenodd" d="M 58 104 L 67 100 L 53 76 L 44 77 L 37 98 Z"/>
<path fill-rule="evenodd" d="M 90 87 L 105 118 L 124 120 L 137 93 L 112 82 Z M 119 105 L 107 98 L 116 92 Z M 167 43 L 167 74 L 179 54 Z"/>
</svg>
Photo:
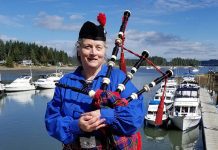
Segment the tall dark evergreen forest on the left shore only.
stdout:
<svg viewBox="0 0 218 150">
<path fill-rule="evenodd" d="M 6 61 L 6 66 L 13 67 L 23 60 L 32 60 L 34 65 L 56 65 L 61 62 L 69 64 L 71 57 L 63 50 L 57 50 L 35 43 L 6 41 L 0 39 L 0 60 Z"/>
</svg>

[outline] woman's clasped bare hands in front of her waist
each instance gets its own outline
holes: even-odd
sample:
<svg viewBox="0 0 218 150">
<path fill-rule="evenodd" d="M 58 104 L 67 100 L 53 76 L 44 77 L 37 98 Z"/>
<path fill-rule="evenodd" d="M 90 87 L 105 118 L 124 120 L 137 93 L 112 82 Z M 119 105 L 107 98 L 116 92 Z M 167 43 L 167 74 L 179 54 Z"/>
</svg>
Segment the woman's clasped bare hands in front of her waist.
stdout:
<svg viewBox="0 0 218 150">
<path fill-rule="evenodd" d="M 85 132 L 92 132 L 105 127 L 105 119 L 101 119 L 100 117 L 100 109 L 82 114 L 79 119 L 80 129 Z"/>
</svg>

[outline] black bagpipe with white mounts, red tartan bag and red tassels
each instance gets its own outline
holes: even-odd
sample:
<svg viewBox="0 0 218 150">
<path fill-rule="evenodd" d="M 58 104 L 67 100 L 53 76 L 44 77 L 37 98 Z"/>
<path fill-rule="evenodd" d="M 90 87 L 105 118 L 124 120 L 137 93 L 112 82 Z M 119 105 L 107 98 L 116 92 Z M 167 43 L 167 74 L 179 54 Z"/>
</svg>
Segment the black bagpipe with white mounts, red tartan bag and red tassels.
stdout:
<svg viewBox="0 0 218 150">
<path fill-rule="evenodd" d="M 67 88 L 67 89 L 71 89 L 73 91 L 79 92 L 79 93 L 83 93 L 86 95 L 89 95 L 92 99 L 93 99 L 93 106 L 96 109 L 102 108 L 102 107 L 110 107 L 110 108 L 114 108 L 116 106 L 127 106 L 128 103 L 130 103 L 133 100 L 138 99 L 138 97 L 143 94 L 144 92 L 149 92 L 151 88 L 153 88 L 154 86 L 156 86 L 157 84 L 159 84 L 160 82 L 162 82 L 163 80 L 167 80 L 167 78 L 171 77 L 173 75 L 172 70 L 167 70 L 165 73 L 163 73 L 158 67 L 156 67 L 149 59 L 149 53 L 147 50 L 144 50 L 141 55 L 138 55 L 136 53 L 134 53 L 131 50 L 128 50 L 126 48 L 124 48 L 124 40 L 125 40 L 125 29 L 128 23 L 128 19 L 130 17 L 130 11 L 126 10 L 123 14 L 122 17 L 122 24 L 120 26 L 120 30 L 118 33 L 118 36 L 115 40 L 115 46 L 113 48 L 112 51 L 112 56 L 110 58 L 110 60 L 107 63 L 108 69 L 106 72 L 105 77 L 103 77 L 102 79 L 102 85 L 100 87 L 100 89 L 98 89 L 97 91 L 94 90 L 82 90 L 79 89 L 77 87 L 71 87 L 68 85 L 64 85 L 61 83 L 56 83 L 56 86 L 59 87 L 63 87 L 63 88 Z M 126 73 L 126 77 L 124 79 L 124 81 L 120 84 L 118 84 L 118 87 L 116 89 L 116 91 L 108 91 L 107 87 L 110 84 L 110 76 L 111 76 L 111 72 L 113 67 L 115 66 L 115 61 L 117 59 L 117 55 L 119 50 L 122 50 L 121 52 L 121 58 L 120 58 L 120 62 L 125 62 L 124 60 L 124 55 L 123 55 L 123 50 L 126 50 L 136 56 L 139 57 L 139 60 L 134 64 L 134 66 L 131 68 L 131 70 L 129 72 Z M 132 93 L 129 97 L 127 98 L 122 98 L 120 96 L 120 93 L 122 91 L 125 90 L 125 85 L 128 83 L 128 81 L 130 81 L 134 74 L 137 72 L 137 70 L 139 69 L 139 67 L 141 66 L 142 62 L 146 61 L 148 64 L 152 65 L 154 68 L 156 68 L 156 70 L 158 72 L 160 72 L 162 75 L 156 79 L 154 79 L 152 82 L 150 82 L 149 84 L 145 84 L 141 90 L 137 91 L 136 93 Z M 121 69 L 123 68 L 123 64 L 120 64 Z M 122 69 L 125 71 L 125 67 L 124 69 Z M 163 94 L 164 96 L 164 94 Z M 164 99 L 161 99 L 162 102 L 160 102 L 160 105 L 158 107 L 158 112 L 157 112 L 157 118 L 156 118 L 156 124 L 160 125 L 162 123 L 162 115 L 163 115 L 163 101 Z M 162 109 L 162 110 L 161 110 Z"/>
</svg>

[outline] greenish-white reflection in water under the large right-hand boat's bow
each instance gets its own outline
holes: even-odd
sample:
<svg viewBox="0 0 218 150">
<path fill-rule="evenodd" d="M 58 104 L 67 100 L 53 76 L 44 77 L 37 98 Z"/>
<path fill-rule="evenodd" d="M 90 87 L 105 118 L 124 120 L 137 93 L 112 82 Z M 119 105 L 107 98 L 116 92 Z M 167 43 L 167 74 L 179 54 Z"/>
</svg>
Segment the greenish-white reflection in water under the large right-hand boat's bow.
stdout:
<svg viewBox="0 0 218 150">
<path fill-rule="evenodd" d="M 199 137 L 199 126 L 188 131 L 169 131 L 168 136 L 172 149 L 194 149 Z"/>
</svg>

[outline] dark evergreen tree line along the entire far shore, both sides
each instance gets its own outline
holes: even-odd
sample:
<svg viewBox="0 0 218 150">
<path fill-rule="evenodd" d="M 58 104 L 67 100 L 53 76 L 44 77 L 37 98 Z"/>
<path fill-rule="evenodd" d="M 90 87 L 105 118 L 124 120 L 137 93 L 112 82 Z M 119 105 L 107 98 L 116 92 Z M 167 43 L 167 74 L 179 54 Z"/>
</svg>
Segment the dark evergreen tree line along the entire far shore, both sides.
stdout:
<svg viewBox="0 0 218 150">
<path fill-rule="evenodd" d="M 196 59 L 173 58 L 167 61 L 165 58 L 153 56 L 148 58 L 155 65 L 159 66 L 199 66 Z M 20 41 L 6 41 L 0 39 L 0 61 L 5 60 L 7 67 L 13 67 L 23 60 L 32 60 L 34 65 L 57 65 L 61 62 L 64 65 L 78 65 L 76 57 L 70 57 L 64 50 L 57 50 L 35 43 L 25 43 Z M 119 60 L 118 60 L 119 61 Z M 116 63 L 118 63 L 118 61 Z M 133 66 L 138 59 L 126 59 L 127 66 Z M 145 61 L 143 66 L 147 66 Z"/>
</svg>

